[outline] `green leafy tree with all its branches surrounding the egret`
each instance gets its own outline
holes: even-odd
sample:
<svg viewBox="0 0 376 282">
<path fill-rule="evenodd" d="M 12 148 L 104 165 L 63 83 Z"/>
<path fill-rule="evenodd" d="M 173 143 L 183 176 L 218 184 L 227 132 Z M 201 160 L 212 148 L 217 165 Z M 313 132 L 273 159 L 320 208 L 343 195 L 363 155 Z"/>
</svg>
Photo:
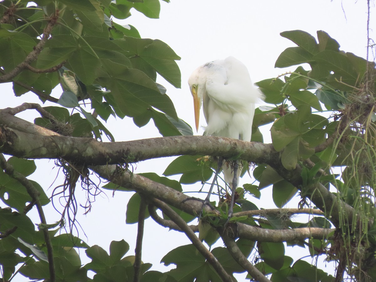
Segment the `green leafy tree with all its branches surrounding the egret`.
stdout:
<svg viewBox="0 0 376 282">
<path fill-rule="evenodd" d="M 340 50 L 322 30 L 317 39 L 302 30 L 282 32 L 296 46 L 284 50 L 275 67 L 296 70 L 256 83 L 269 105 L 256 109 L 252 142 L 190 136 L 166 88 L 156 83 L 159 74 L 180 88 L 180 58 L 165 42 L 116 23 L 132 8 L 159 17 L 159 0 L 0 2 L 0 82 L 11 82 L 15 96 L 32 92 L 41 104 L 55 103 L 0 110 L 0 148 L 10 156 L 0 155 L 2 281 L 18 275 L 46 281 L 235 281 L 233 274 L 243 272 L 255 281 L 376 280 L 374 62 Z M 54 97 L 58 85 L 61 96 Z M 34 123 L 15 117 L 32 109 L 41 115 Z M 139 127 L 152 119 L 163 138 L 115 142 L 105 127 L 111 115 L 131 117 Z M 265 124 L 271 124 L 272 144 L 262 143 L 258 127 Z M 178 156 L 164 176 L 132 173 L 132 163 L 162 156 Z M 199 224 L 188 226 L 202 203 L 184 194 L 185 185 L 208 182 L 215 156 L 243 160 L 243 174 L 254 167 L 257 181 L 236 195 L 217 184 L 214 210 L 206 206 Z M 61 168 L 64 183 L 51 197 L 27 178 L 36 169 L 32 159 L 53 159 Z M 108 183 L 97 186 L 91 172 Z M 179 181 L 167 178 L 176 174 Z M 75 237 L 78 180 L 88 195 L 136 192 L 126 212 L 126 223 L 138 223 L 135 254 L 124 240 L 112 241 L 108 252 Z M 252 202 L 268 186 L 277 209 Z M 297 194 L 299 205 L 284 208 Z M 237 205 L 226 224 L 231 196 Z M 61 218 L 46 222 L 44 210 L 58 199 L 65 201 Z M 98 207 L 88 201 L 86 212 L 91 208 Z M 31 209 L 40 221 L 30 219 Z M 297 222 L 296 214 L 310 217 Z M 164 264 L 176 265 L 165 273 L 141 261 L 149 217 L 192 242 L 161 256 Z M 225 247 L 211 248 L 218 240 Z M 286 255 L 289 246 L 312 258 L 326 256 L 336 265 L 334 276 Z M 83 265 L 78 250 L 91 262 Z"/>
</svg>

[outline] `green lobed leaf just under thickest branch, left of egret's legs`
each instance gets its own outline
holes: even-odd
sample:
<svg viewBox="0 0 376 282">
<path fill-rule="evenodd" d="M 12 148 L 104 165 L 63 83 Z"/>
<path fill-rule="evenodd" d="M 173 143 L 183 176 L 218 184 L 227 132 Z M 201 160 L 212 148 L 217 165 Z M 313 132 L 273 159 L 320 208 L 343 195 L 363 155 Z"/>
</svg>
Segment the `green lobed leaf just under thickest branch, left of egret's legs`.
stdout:
<svg viewBox="0 0 376 282">
<path fill-rule="evenodd" d="M 177 157 L 166 168 L 163 175 L 170 176 L 182 174 L 180 183 L 190 184 L 197 181 L 208 181 L 213 174 L 211 168 L 206 165 L 200 165 L 197 159 L 202 156 L 180 156 Z"/>
</svg>

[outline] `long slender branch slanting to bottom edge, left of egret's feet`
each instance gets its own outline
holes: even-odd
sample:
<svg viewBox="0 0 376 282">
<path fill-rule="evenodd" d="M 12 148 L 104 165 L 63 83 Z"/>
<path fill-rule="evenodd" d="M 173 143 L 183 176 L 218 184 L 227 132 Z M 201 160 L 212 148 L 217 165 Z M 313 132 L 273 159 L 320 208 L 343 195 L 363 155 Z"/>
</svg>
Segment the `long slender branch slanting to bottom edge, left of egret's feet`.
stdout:
<svg viewBox="0 0 376 282">
<path fill-rule="evenodd" d="M 233 282 L 232 277 L 224 270 L 223 266 L 218 262 L 215 256 L 209 252 L 204 244 L 197 238 L 196 234 L 190 229 L 188 224 L 167 204 L 164 202 L 152 199 L 153 204 L 161 209 L 168 217 L 171 218 L 174 223 L 177 224 L 185 233 L 185 235 L 191 240 L 192 244 L 196 247 L 197 250 L 207 259 L 207 261 L 212 265 L 212 267 L 217 271 L 219 276 L 223 281 Z"/>
</svg>

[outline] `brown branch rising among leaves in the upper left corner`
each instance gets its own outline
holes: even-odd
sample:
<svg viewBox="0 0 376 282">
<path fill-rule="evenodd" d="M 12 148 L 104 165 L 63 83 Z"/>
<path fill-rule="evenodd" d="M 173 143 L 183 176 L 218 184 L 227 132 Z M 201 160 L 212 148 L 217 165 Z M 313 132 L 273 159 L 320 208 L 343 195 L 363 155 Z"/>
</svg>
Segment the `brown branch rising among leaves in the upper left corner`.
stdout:
<svg viewBox="0 0 376 282">
<path fill-rule="evenodd" d="M 50 17 L 49 22 L 43 31 L 42 39 L 38 42 L 38 44 L 36 44 L 34 50 L 30 52 L 29 55 L 26 56 L 26 59 L 24 59 L 23 62 L 18 64 L 13 70 L 0 76 L 0 83 L 11 81 L 12 79 L 14 79 L 14 77 L 21 73 L 21 71 L 26 69 L 31 62 L 35 61 L 38 58 L 39 53 L 41 53 L 41 51 L 43 50 L 44 45 L 49 39 L 50 33 L 53 27 L 55 26 L 57 20 L 58 14 L 54 14 L 52 17 Z"/>
</svg>

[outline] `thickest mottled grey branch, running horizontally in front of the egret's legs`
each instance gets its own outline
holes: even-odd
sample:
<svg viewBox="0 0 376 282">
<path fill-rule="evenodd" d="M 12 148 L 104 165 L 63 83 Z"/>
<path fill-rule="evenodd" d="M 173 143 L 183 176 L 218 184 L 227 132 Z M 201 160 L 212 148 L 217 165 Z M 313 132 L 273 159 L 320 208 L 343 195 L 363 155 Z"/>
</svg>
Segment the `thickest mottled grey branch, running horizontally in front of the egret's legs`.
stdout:
<svg viewBox="0 0 376 282">
<path fill-rule="evenodd" d="M 32 134 L 30 134 L 32 133 Z M 272 144 L 245 142 L 215 136 L 171 136 L 126 142 L 103 143 L 91 138 L 62 136 L 0 111 L 0 145 L 3 153 L 20 158 L 64 158 L 86 165 L 123 164 L 178 155 L 212 155 L 270 165 L 280 176 L 299 188 L 335 226 L 352 224 L 353 208 L 320 183 L 303 187 L 302 168 L 287 170 Z M 344 222 L 340 222 L 340 219 Z"/>
</svg>

